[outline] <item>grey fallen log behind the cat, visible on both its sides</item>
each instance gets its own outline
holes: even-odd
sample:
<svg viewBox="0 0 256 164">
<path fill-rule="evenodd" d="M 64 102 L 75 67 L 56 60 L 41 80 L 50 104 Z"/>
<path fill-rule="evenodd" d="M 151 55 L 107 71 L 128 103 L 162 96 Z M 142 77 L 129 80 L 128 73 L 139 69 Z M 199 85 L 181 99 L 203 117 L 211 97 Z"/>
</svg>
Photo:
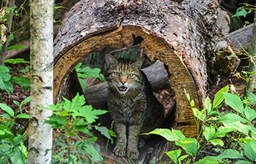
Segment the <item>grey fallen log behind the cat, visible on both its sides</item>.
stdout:
<svg viewBox="0 0 256 164">
<path fill-rule="evenodd" d="M 153 91 L 163 90 L 170 86 L 165 66 L 159 60 L 157 60 L 153 65 L 142 70 L 148 77 L 148 81 L 150 82 Z M 89 103 L 94 106 L 95 109 L 104 108 L 103 105 L 107 102 L 108 98 L 107 82 L 102 82 L 99 85 L 86 88 L 85 95 L 86 98 L 88 98 Z"/>
</svg>

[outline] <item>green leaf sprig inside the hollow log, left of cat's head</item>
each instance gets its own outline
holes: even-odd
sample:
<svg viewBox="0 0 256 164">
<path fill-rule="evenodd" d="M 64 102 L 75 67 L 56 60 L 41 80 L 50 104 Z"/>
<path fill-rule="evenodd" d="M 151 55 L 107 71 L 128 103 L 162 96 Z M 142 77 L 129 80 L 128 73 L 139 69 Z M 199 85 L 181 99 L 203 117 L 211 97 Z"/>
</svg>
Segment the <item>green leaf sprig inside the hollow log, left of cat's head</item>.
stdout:
<svg viewBox="0 0 256 164">
<path fill-rule="evenodd" d="M 103 74 L 100 74 L 100 69 L 91 69 L 89 66 L 80 69 L 81 65 L 82 63 L 78 63 L 78 65 L 75 66 L 75 70 L 78 72 L 78 79 L 83 90 L 86 90 L 86 82 L 83 80 L 85 78 L 96 77 L 97 79 L 99 79 L 99 82 L 104 82 L 104 76 Z"/>
</svg>

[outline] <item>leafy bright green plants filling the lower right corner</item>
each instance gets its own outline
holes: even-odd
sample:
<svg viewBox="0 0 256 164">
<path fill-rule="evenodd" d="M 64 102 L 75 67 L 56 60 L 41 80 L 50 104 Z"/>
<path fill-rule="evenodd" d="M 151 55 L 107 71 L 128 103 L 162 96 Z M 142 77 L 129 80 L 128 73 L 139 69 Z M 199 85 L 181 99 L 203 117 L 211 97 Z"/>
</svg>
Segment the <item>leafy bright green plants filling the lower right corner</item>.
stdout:
<svg viewBox="0 0 256 164">
<path fill-rule="evenodd" d="M 189 104 L 192 107 L 193 114 L 195 115 L 195 121 L 197 123 L 197 136 L 201 136 L 203 133 L 203 144 L 199 144 L 199 138 L 186 138 L 183 133 L 179 130 L 169 130 L 169 129 L 156 129 L 146 134 L 157 134 L 165 137 L 168 141 L 175 141 L 177 146 L 182 147 L 187 155 L 181 156 L 181 149 L 166 152 L 174 163 L 181 163 L 187 157 L 191 157 L 189 160 L 193 159 L 193 163 L 230 163 L 226 159 L 236 159 L 241 163 L 255 163 L 256 162 L 256 128 L 252 124 L 252 120 L 256 118 L 256 112 L 251 109 L 248 105 L 244 105 L 241 98 L 238 95 L 233 95 L 227 93 L 228 86 L 219 90 L 219 92 L 214 97 L 214 103 L 211 104 L 210 99 L 207 97 L 204 106 L 206 107 L 202 111 L 193 108 L 195 106 L 194 101 L 190 101 L 189 94 L 186 92 Z M 235 112 L 230 112 L 225 115 L 218 114 L 217 117 L 212 116 L 219 108 L 222 101 L 225 100 L 225 104 L 230 106 Z M 210 117 L 211 116 L 211 117 Z M 221 125 L 214 125 L 211 122 L 217 121 Z M 200 129 L 199 123 L 202 123 Z M 202 131 L 202 129 L 204 129 Z M 222 153 L 217 157 L 206 156 L 203 159 L 198 160 L 197 157 L 200 155 L 201 151 L 207 144 L 211 143 L 214 146 L 219 145 L 219 147 L 224 147 L 223 137 L 227 136 L 230 132 L 241 133 L 239 135 L 238 141 L 244 142 L 244 147 L 238 151 L 236 149 L 225 149 L 221 151 Z M 242 137 L 242 136 L 245 136 Z M 237 143 L 234 143 L 237 144 Z M 181 157 L 180 157 L 181 156 Z M 187 162 L 189 162 L 187 160 Z"/>
</svg>

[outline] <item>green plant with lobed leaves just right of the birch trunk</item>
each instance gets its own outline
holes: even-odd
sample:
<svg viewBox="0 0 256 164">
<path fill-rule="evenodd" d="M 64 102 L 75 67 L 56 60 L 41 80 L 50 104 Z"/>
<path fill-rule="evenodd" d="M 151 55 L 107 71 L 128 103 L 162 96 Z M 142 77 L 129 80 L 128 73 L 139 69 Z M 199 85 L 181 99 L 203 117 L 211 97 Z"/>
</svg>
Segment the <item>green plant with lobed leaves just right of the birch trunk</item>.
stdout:
<svg viewBox="0 0 256 164">
<path fill-rule="evenodd" d="M 49 109 L 53 114 L 46 120 L 45 123 L 52 125 L 53 129 L 64 130 L 65 133 L 59 140 L 56 141 L 54 147 L 58 151 L 53 151 L 52 163 L 98 163 L 102 161 L 99 155 L 99 146 L 94 143 L 97 137 L 90 132 L 92 128 L 98 130 L 106 138 L 113 142 L 110 136 L 115 136 L 112 130 L 99 125 L 91 125 L 94 123 L 100 114 L 105 114 L 107 111 L 100 109 L 92 109 L 91 106 L 84 105 L 85 98 L 83 95 L 76 95 L 72 101 L 64 98 L 64 102 L 56 105 L 49 105 Z M 79 135 L 84 133 L 83 136 Z M 78 138 L 74 141 L 72 138 Z"/>
</svg>

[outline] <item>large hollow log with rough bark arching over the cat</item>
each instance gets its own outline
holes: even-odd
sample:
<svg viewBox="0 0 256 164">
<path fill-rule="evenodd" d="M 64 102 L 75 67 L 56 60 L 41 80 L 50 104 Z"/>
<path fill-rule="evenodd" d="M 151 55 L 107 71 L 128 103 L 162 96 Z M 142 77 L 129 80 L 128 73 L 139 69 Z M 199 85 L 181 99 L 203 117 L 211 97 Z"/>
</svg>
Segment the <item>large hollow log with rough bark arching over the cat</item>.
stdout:
<svg viewBox="0 0 256 164">
<path fill-rule="evenodd" d="M 208 87 L 236 67 L 236 55 L 231 60 L 225 58 L 232 53 L 228 23 L 226 12 L 214 0 L 181 4 L 169 0 L 81 0 L 64 15 L 55 39 L 54 101 L 83 94 L 74 68 L 90 52 L 139 45 L 147 58 L 165 64 L 176 93 L 173 128 L 195 137 L 197 125 L 184 89 L 195 101 L 194 107 L 203 109 Z M 152 155 L 165 146 L 157 145 Z M 104 155 L 105 147 L 100 146 Z M 143 157 L 139 159 L 142 163 Z M 109 152 L 108 160 L 122 163 L 121 159 Z"/>
</svg>

